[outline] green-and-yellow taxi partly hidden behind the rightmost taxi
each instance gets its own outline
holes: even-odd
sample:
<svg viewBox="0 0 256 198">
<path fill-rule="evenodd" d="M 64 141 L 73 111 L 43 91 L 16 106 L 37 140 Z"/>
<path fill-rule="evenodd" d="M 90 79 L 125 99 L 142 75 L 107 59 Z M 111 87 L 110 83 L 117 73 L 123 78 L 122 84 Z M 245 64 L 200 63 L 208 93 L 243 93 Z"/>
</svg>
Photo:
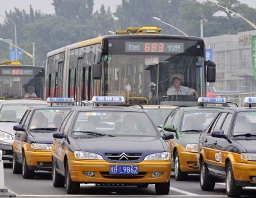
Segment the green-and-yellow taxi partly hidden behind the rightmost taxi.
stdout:
<svg viewBox="0 0 256 198">
<path fill-rule="evenodd" d="M 188 178 L 189 173 L 199 173 L 196 162 L 198 139 L 222 107 L 207 107 L 207 103 L 226 103 L 225 98 L 198 98 L 198 107 L 177 107 L 168 116 L 161 132 L 174 132 L 170 143 L 174 175 L 177 181 Z"/>
</svg>

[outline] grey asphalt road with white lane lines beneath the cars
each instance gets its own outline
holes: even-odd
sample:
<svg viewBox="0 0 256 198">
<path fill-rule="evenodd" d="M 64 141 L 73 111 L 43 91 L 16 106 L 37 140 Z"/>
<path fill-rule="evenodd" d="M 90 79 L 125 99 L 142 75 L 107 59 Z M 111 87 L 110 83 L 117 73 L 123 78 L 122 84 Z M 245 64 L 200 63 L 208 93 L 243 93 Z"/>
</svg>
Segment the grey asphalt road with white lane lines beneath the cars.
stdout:
<svg viewBox="0 0 256 198">
<path fill-rule="evenodd" d="M 17 197 L 227 197 L 225 184 L 216 183 L 212 192 L 200 188 L 199 176 L 190 175 L 188 181 L 175 181 L 172 174 L 170 194 L 157 196 L 154 185 L 148 188 L 81 185 L 79 195 L 67 195 L 65 188 L 54 188 L 50 172 L 36 172 L 34 179 L 23 179 L 12 173 L 12 165 L 4 164 L 5 186 Z M 256 188 L 245 188 L 242 197 L 255 197 Z"/>
</svg>

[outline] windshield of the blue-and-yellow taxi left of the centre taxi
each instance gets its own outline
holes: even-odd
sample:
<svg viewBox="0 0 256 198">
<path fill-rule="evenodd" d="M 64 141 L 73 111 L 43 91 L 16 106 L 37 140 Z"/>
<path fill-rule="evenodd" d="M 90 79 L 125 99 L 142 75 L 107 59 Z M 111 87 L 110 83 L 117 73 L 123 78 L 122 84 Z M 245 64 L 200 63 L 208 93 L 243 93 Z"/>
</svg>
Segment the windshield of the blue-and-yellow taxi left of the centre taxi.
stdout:
<svg viewBox="0 0 256 198">
<path fill-rule="evenodd" d="M 31 119 L 30 130 L 57 129 L 67 114 L 68 109 L 37 109 Z"/>
</svg>

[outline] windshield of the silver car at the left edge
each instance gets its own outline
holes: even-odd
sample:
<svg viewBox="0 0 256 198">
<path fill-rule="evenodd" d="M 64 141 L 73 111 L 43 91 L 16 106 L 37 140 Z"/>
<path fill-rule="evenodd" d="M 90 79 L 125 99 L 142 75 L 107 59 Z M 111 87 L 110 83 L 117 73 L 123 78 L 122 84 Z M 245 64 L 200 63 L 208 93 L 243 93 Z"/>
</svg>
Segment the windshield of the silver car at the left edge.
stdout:
<svg viewBox="0 0 256 198">
<path fill-rule="evenodd" d="M 3 104 L 0 110 L 0 121 L 19 123 L 28 107 L 33 105 L 35 104 Z"/>
</svg>

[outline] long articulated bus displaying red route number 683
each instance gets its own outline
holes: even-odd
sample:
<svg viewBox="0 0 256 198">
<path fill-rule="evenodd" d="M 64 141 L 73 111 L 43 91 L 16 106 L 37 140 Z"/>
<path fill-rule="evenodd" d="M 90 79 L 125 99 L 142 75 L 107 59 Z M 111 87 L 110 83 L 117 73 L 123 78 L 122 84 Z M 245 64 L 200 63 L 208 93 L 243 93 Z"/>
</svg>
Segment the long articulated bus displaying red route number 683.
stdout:
<svg viewBox="0 0 256 198">
<path fill-rule="evenodd" d="M 207 69 L 206 69 L 207 68 Z M 179 76 L 196 95 L 168 95 Z M 205 61 L 202 38 L 161 34 L 157 27 L 130 27 L 47 54 L 45 97 L 124 96 L 146 104 L 198 105 L 215 64 Z"/>
</svg>

